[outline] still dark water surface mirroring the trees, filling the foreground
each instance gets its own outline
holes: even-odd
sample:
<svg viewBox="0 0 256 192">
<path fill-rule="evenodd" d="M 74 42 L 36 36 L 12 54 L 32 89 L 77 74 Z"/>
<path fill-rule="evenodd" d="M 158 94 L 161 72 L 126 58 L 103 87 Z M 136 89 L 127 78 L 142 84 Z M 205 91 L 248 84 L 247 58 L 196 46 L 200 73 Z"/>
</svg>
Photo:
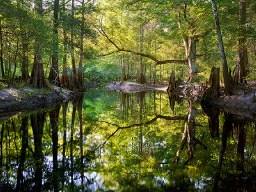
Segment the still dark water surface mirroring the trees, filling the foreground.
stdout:
<svg viewBox="0 0 256 192">
<path fill-rule="evenodd" d="M 255 191 L 254 117 L 91 90 L 0 122 L 0 191 Z"/>
</svg>

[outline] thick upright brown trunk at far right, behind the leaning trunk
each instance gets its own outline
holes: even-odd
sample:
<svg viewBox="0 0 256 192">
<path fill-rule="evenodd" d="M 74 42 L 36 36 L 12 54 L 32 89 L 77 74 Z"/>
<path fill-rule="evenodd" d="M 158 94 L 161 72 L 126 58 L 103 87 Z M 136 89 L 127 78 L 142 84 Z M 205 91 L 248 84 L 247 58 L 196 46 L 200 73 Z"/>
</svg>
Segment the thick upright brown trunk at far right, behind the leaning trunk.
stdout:
<svg viewBox="0 0 256 192">
<path fill-rule="evenodd" d="M 245 82 L 245 78 L 249 74 L 248 52 L 246 47 L 246 3 L 247 0 L 240 0 L 239 6 L 239 49 L 238 49 L 238 74 L 236 73 L 235 83 Z M 240 70 L 239 70 L 240 69 Z M 239 73 L 240 72 L 240 73 Z"/>
</svg>

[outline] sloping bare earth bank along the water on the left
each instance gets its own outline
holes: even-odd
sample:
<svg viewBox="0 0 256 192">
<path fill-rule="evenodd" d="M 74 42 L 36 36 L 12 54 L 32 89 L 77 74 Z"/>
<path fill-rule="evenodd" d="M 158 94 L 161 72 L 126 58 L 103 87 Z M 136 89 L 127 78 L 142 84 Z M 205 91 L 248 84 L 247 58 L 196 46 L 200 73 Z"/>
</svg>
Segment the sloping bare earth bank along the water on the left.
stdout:
<svg viewBox="0 0 256 192">
<path fill-rule="evenodd" d="M 74 98 L 76 95 L 76 92 L 59 87 L 50 89 L 1 88 L 0 120 L 25 111 L 51 108 Z"/>
</svg>

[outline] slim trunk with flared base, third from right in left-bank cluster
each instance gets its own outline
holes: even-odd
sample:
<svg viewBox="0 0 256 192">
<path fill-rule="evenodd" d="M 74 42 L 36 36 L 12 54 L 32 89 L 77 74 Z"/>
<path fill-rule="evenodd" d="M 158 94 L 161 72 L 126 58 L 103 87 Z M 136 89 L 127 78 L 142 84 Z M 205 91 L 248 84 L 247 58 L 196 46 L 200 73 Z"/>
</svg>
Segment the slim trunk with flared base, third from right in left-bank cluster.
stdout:
<svg viewBox="0 0 256 192">
<path fill-rule="evenodd" d="M 66 11 L 66 3 L 65 0 L 62 2 L 63 14 Z M 62 86 L 67 87 L 69 84 L 68 73 L 67 73 L 67 32 L 66 28 L 63 27 L 63 63 L 62 63 L 62 76 L 60 83 Z"/>
</svg>

